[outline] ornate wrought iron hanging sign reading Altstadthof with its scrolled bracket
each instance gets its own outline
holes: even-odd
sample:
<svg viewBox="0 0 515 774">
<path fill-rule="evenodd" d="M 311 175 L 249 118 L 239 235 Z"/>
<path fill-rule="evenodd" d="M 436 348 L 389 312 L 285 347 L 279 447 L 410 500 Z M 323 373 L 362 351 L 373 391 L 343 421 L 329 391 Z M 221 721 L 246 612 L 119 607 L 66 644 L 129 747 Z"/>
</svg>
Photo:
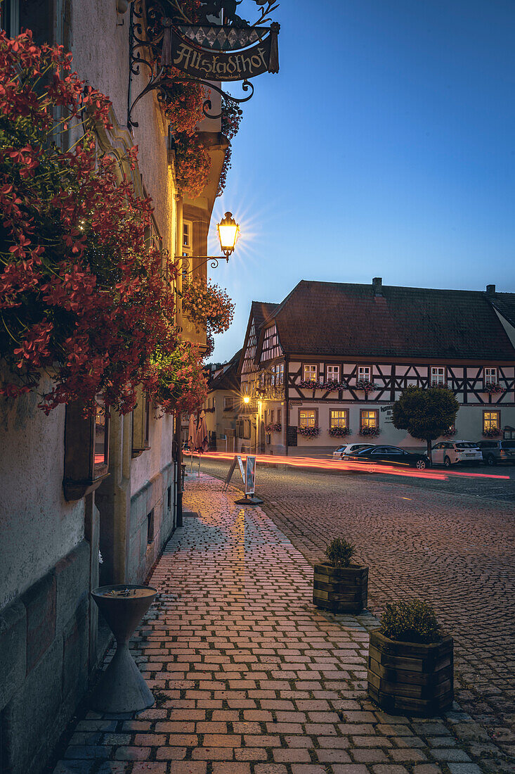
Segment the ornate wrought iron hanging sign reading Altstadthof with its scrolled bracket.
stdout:
<svg viewBox="0 0 515 774">
<path fill-rule="evenodd" d="M 242 0 L 240 0 L 242 2 Z M 138 126 L 132 120 L 135 104 L 149 91 L 158 91 L 158 99 L 166 99 L 166 89 L 174 80 L 191 80 L 218 91 L 236 104 L 247 102 L 254 94 L 250 78 L 262 73 L 278 73 L 278 22 L 271 21 L 270 12 L 278 7 L 273 0 L 254 0 L 261 14 L 251 24 L 236 13 L 237 0 L 210 0 L 189 19 L 184 0 L 136 0 L 131 5 L 130 56 L 131 76 L 138 75 L 140 65 L 148 68 L 148 85 L 131 100 L 129 81 L 128 126 Z M 216 23 L 217 19 L 222 23 Z M 146 23 L 145 23 L 146 22 Z M 143 53 L 145 52 L 145 53 Z M 172 70 L 175 68 L 175 70 Z M 176 70 L 180 74 L 176 74 Z M 242 90 L 251 91 L 242 98 L 227 94 L 213 81 L 243 81 Z M 209 99 L 203 104 L 208 118 L 220 118 L 210 112 Z"/>
</svg>

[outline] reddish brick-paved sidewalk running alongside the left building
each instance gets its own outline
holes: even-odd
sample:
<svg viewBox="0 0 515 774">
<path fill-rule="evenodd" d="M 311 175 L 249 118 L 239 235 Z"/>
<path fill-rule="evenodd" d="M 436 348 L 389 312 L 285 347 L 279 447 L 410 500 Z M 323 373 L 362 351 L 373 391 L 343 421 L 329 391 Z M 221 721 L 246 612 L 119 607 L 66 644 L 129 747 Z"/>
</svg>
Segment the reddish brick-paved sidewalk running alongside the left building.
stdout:
<svg viewBox="0 0 515 774">
<path fill-rule="evenodd" d="M 160 594 L 132 646 L 157 698 L 89 712 L 55 774 L 479 774 L 508 771 L 458 705 L 393 717 L 367 700 L 370 614 L 312 605 L 312 568 L 261 509 L 220 481 L 187 485 L 155 567 Z"/>
</svg>

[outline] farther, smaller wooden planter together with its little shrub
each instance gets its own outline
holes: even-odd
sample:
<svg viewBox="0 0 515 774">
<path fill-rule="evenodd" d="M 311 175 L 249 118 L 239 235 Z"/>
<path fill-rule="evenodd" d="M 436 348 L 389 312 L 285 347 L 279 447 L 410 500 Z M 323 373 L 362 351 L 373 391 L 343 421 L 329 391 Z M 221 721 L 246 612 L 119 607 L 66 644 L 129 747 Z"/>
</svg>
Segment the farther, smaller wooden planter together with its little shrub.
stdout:
<svg viewBox="0 0 515 774">
<path fill-rule="evenodd" d="M 367 607 L 368 567 L 351 564 L 356 547 L 335 538 L 326 548 L 326 562 L 315 564 L 313 604 L 333 613 L 360 613 Z"/>
</svg>

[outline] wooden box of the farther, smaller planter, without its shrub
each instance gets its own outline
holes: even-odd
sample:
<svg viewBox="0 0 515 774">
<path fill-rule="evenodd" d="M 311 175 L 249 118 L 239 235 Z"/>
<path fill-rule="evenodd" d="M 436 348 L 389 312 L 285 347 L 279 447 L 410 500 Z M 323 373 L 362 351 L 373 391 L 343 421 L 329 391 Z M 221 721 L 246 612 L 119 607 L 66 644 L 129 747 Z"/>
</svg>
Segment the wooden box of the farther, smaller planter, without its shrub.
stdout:
<svg viewBox="0 0 515 774">
<path fill-rule="evenodd" d="M 329 562 L 315 564 L 313 604 L 333 613 L 360 613 L 367 607 L 368 567 L 351 564 L 333 567 Z"/>
</svg>

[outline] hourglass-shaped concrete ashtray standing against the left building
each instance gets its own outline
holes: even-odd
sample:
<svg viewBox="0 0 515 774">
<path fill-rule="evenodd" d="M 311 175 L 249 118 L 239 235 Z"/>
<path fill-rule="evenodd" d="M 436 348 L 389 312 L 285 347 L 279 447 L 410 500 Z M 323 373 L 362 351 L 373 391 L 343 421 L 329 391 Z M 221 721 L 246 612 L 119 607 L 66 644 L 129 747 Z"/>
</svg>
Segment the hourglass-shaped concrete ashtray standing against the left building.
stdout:
<svg viewBox="0 0 515 774">
<path fill-rule="evenodd" d="M 90 700 L 99 712 L 138 712 L 152 707 L 154 697 L 128 649 L 131 634 L 154 601 L 152 586 L 101 586 L 91 592 L 116 639 L 116 652 L 101 674 Z"/>
</svg>

